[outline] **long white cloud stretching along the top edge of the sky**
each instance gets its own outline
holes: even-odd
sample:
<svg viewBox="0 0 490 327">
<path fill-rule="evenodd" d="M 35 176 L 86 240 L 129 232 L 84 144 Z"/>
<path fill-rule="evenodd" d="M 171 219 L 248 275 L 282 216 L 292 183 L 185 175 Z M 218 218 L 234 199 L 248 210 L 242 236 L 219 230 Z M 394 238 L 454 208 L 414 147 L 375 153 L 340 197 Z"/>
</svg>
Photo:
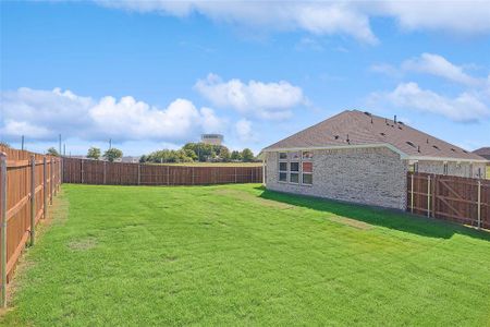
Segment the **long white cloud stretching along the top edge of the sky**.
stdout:
<svg viewBox="0 0 490 327">
<path fill-rule="evenodd" d="M 370 19 L 388 17 L 405 31 L 460 35 L 490 33 L 489 1 L 167 1 L 95 0 L 137 12 L 177 17 L 198 13 L 217 22 L 269 31 L 302 29 L 314 35 L 348 35 L 376 44 Z"/>
</svg>

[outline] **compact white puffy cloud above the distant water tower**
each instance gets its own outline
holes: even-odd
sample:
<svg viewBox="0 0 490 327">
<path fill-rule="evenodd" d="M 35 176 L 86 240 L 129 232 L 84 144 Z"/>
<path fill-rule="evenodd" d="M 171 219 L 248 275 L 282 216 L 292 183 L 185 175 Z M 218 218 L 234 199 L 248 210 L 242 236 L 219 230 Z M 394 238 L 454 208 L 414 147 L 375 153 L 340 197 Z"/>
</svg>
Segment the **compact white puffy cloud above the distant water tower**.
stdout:
<svg viewBox="0 0 490 327">
<path fill-rule="evenodd" d="M 302 88 L 285 81 L 243 83 L 234 78 L 224 82 L 209 74 L 206 80 L 197 81 L 195 88 L 216 107 L 233 108 L 261 119 L 289 118 L 292 108 L 306 104 Z"/>
</svg>

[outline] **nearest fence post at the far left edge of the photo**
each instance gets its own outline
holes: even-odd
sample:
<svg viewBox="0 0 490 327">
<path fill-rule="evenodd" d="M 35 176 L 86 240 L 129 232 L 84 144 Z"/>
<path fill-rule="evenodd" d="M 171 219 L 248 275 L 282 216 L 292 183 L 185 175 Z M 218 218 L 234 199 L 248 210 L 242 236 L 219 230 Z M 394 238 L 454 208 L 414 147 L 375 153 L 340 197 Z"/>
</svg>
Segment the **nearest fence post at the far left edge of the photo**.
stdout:
<svg viewBox="0 0 490 327">
<path fill-rule="evenodd" d="M 2 294 L 1 294 L 1 305 L 2 307 L 7 307 L 7 154 L 0 153 L 0 169 L 1 169 L 1 198 L 0 198 L 0 207 L 1 207 L 1 265 L 2 265 Z"/>
</svg>

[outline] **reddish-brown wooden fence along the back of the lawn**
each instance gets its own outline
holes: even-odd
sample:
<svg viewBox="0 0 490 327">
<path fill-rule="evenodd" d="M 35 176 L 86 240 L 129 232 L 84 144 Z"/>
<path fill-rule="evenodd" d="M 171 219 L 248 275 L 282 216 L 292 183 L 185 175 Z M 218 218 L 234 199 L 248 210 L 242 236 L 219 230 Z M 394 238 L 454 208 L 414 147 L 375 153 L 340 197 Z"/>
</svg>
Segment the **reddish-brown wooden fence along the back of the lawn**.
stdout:
<svg viewBox="0 0 490 327">
<path fill-rule="evenodd" d="M 262 167 L 192 167 L 63 158 L 63 182 L 108 185 L 261 183 Z"/>
</svg>

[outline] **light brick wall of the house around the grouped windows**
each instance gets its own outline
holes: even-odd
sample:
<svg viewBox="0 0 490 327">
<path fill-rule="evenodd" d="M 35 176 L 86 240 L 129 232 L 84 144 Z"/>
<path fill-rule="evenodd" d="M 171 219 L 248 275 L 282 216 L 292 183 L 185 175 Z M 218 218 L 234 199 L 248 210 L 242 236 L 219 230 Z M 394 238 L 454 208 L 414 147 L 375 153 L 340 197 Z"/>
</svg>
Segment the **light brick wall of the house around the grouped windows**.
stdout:
<svg viewBox="0 0 490 327">
<path fill-rule="evenodd" d="M 279 153 L 267 153 L 267 189 L 406 208 L 407 162 L 385 147 L 314 150 L 313 185 L 279 182 Z"/>
</svg>

